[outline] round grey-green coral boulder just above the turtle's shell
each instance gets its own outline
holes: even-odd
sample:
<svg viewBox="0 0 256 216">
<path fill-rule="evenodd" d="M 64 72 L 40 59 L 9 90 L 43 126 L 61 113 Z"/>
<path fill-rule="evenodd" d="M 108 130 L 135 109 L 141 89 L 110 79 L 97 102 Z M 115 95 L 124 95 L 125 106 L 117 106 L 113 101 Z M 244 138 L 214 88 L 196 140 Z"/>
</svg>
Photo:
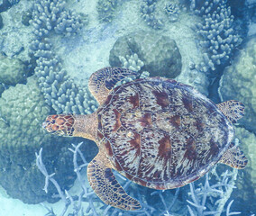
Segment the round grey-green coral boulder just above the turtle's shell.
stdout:
<svg viewBox="0 0 256 216">
<path fill-rule="evenodd" d="M 133 32 L 118 38 L 110 50 L 109 63 L 121 67 L 120 58 L 137 54 L 151 76 L 174 78 L 181 72 L 181 56 L 175 40 L 152 32 Z"/>
</svg>

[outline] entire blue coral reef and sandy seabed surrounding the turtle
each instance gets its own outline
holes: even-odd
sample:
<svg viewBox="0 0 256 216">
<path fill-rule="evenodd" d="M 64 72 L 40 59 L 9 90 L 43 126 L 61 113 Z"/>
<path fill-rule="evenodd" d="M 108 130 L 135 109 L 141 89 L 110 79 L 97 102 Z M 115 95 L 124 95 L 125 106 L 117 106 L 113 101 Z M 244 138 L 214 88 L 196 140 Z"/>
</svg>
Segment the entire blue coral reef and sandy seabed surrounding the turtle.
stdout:
<svg viewBox="0 0 256 216">
<path fill-rule="evenodd" d="M 0 49 L 0 216 L 255 215 L 255 0 L 0 0 Z M 109 66 L 173 78 L 215 103 L 241 101 L 233 141 L 248 166 L 217 165 L 165 191 L 115 172 L 142 209 L 105 205 L 87 182 L 96 144 L 41 123 L 95 112 L 87 81 Z"/>
</svg>

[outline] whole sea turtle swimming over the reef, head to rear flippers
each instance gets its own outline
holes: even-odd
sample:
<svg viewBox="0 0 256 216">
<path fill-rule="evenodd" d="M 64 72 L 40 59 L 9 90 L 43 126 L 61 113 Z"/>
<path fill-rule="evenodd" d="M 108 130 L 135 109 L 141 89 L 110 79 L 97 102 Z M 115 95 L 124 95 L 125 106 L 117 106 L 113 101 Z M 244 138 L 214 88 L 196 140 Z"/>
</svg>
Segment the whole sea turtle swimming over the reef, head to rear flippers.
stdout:
<svg viewBox="0 0 256 216">
<path fill-rule="evenodd" d="M 233 122 L 242 118 L 238 101 L 215 104 L 189 85 L 148 77 L 114 85 L 135 72 L 105 67 L 89 79 L 99 108 L 89 115 L 54 114 L 43 128 L 60 136 L 96 142 L 99 152 L 87 166 L 89 184 L 106 204 L 138 210 L 112 169 L 134 183 L 171 189 L 196 181 L 216 163 L 247 164 L 232 143 Z"/>
</svg>

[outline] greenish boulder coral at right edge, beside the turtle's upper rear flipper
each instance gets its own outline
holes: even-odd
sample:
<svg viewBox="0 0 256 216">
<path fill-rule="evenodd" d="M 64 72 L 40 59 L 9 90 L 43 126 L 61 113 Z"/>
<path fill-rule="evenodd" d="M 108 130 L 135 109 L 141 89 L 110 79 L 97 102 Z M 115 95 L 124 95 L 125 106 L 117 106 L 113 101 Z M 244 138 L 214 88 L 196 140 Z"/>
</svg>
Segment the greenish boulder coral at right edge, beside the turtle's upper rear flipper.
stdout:
<svg viewBox="0 0 256 216">
<path fill-rule="evenodd" d="M 248 41 L 234 59 L 233 65 L 226 67 L 221 79 L 219 93 L 224 101 L 239 100 L 245 105 L 242 123 L 246 129 L 256 131 L 256 38 Z"/>
</svg>

